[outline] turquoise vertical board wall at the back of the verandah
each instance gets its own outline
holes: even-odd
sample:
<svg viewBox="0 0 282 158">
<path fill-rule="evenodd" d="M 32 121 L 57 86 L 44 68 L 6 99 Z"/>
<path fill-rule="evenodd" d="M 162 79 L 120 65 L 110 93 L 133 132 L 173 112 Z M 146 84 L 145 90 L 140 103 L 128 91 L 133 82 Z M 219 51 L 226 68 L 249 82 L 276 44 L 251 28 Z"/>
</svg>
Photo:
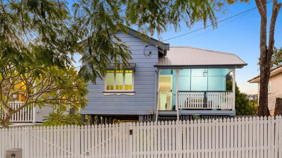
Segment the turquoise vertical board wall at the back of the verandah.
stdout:
<svg viewBox="0 0 282 158">
<path fill-rule="evenodd" d="M 206 69 L 208 75 L 203 76 L 205 69 L 183 69 L 179 71 L 179 91 L 225 91 L 225 76 L 231 71 L 227 68 Z M 173 75 L 172 79 L 172 106 L 176 97 L 176 73 L 172 70 L 163 70 L 160 75 Z"/>
</svg>

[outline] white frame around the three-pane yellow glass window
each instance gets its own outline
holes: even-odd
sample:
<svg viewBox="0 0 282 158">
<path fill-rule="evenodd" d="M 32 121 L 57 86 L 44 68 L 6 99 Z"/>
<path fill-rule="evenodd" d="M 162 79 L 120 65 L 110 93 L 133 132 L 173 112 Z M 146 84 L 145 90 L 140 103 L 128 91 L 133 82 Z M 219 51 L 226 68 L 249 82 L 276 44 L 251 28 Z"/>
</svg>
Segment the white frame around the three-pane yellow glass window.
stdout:
<svg viewBox="0 0 282 158">
<path fill-rule="evenodd" d="M 114 71 L 114 90 L 107 90 L 107 71 Z M 134 92 L 134 70 L 107 70 L 105 73 L 105 92 Z M 122 89 L 123 90 L 116 90 L 116 71 L 132 71 L 132 89 L 125 90 L 125 73 L 122 73 Z"/>
</svg>

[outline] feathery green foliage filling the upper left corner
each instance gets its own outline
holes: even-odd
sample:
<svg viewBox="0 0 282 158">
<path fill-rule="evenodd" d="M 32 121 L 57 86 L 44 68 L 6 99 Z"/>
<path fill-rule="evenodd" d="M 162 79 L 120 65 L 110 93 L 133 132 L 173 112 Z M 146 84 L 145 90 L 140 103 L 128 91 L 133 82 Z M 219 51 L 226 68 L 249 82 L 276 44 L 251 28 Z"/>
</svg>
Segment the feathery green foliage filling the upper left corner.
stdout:
<svg viewBox="0 0 282 158">
<path fill-rule="evenodd" d="M 5 64 L 64 68 L 76 53 L 66 1 L 11 0 L 0 7 L 0 73 Z M 70 57 L 69 57 L 70 56 Z"/>
</svg>

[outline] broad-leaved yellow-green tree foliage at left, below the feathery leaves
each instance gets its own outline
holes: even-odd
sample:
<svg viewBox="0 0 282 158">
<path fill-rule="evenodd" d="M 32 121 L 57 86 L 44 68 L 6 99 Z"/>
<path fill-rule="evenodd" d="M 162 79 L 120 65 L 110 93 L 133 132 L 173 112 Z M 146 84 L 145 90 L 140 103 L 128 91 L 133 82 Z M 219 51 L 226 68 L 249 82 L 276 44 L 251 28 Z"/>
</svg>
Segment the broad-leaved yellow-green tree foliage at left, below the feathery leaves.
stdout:
<svg viewBox="0 0 282 158">
<path fill-rule="evenodd" d="M 78 110 L 86 106 L 88 90 L 85 80 L 81 79 L 75 67 L 60 69 L 47 66 L 23 66 L 25 71 L 17 71 L 15 66 L 7 66 L 0 80 L 1 105 L 16 101 L 12 95 L 24 98 L 23 107 L 32 105 L 44 107 L 53 105 L 58 112 L 66 106 Z M 8 98 L 7 100 L 5 98 Z M 8 107 L 7 107 L 8 108 Z M 19 109 L 20 109 L 19 108 Z M 16 113 L 16 111 L 14 111 Z"/>
</svg>

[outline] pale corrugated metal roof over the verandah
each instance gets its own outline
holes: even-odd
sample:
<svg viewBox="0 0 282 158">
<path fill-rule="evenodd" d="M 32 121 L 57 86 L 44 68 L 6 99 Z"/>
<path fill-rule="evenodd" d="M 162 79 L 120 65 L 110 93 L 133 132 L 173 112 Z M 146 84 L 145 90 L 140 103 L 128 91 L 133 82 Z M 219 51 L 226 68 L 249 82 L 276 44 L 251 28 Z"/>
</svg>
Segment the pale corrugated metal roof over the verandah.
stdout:
<svg viewBox="0 0 282 158">
<path fill-rule="evenodd" d="M 247 64 L 236 54 L 193 47 L 170 47 L 166 56 L 159 56 L 157 66 L 242 65 Z"/>
</svg>

